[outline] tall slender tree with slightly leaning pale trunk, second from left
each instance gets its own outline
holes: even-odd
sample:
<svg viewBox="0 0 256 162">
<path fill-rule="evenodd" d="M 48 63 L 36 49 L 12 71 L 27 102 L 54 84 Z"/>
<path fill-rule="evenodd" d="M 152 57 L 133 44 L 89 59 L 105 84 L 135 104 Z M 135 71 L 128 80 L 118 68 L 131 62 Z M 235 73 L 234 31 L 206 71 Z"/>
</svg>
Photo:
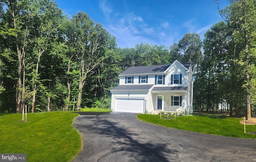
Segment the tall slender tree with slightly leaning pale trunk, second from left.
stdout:
<svg viewBox="0 0 256 162">
<path fill-rule="evenodd" d="M 42 54 L 49 49 L 49 46 L 56 44 L 56 38 L 58 26 L 62 20 L 62 10 L 58 8 L 54 1 L 39 0 L 37 4 L 37 10 L 34 14 L 37 14 L 36 26 L 34 28 L 34 55 L 37 57 L 36 68 L 34 70 L 33 77 L 33 101 L 32 101 L 32 112 L 35 109 L 36 102 L 36 85 L 39 83 L 38 68 L 40 64 L 40 58 Z M 51 48 L 50 48 L 51 49 Z"/>
</svg>

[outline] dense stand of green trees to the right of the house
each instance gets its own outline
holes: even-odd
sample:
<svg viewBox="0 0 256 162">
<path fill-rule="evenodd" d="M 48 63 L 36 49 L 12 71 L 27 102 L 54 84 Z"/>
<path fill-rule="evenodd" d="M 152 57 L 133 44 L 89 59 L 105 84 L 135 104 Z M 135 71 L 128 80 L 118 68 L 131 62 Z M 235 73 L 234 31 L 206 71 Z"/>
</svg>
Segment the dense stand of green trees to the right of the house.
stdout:
<svg viewBox="0 0 256 162">
<path fill-rule="evenodd" d="M 194 105 L 211 111 L 226 102 L 230 116 L 250 119 L 256 112 L 256 1 L 230 0 L 230 6 L 219 13 L 225 23 L 215 24 L 204 34 Z"/>
</svg>

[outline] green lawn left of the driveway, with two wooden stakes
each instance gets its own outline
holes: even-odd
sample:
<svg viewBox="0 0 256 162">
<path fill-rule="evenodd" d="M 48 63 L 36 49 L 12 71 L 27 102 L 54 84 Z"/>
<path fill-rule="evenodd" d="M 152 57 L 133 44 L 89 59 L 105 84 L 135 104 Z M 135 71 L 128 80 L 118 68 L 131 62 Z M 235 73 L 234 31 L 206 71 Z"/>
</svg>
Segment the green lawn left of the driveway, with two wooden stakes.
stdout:
<svg viewBox="0 0 256 162">
<path fill-rule="evenodd" d="M 29 113 L 0 116 L 0 153 L 26 154 L 27 162 L 67 162 L 82 149 L 81 136 L 72 127 L 78 114 Z"/>
</svg>

